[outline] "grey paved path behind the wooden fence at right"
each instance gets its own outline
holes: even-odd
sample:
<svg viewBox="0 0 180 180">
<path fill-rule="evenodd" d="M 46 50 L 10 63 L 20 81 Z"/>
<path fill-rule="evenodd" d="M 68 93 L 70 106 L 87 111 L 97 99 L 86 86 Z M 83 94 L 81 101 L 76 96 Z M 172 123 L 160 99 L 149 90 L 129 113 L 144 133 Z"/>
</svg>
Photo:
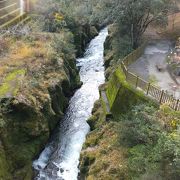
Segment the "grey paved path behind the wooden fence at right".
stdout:
<svg viewBox="0 0 180 180">
<path fill-rule="evenodd" d="M 144 54 L 129 70 L 147 81 L 151 81 L 161 89 L 168 91 L 176 98 L 180 98 L 180 87 L 173 81 L 168 71 L 158 71 L 157 65 L 166 68 L 166 57 L 173 44 L 168 40 L 156 40 L 147 45 Z"/>
</svg>

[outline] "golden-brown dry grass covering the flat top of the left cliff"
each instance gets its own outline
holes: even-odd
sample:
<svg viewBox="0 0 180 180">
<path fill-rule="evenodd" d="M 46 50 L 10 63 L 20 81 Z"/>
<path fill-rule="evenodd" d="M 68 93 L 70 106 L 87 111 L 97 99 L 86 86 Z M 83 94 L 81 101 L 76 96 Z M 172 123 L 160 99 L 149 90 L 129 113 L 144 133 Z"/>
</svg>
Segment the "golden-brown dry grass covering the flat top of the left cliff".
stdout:
<svg viewBox="0 0 180 180">
<path fill-rule="evenodd" d="M 57 34 L 65 42 L 67 33 Z M 54 34 L 32 33 L 29 36 L 17 38 L 7 37 L 9 50 L 1 54 L 0 59 L 0 98 L 15 96 L 16 99 L 29 105 L 36 104 L 41 108 L 48 101 L 48 88 L 54 84 L 68 80 L 65 64 L 57 52 L 52 49 Z M 59 54 L 60 55 L 60 54 Z M 22 70 L 23 76 L 14 76 L 7 81 L 9 74 Z"/>
</svg>

